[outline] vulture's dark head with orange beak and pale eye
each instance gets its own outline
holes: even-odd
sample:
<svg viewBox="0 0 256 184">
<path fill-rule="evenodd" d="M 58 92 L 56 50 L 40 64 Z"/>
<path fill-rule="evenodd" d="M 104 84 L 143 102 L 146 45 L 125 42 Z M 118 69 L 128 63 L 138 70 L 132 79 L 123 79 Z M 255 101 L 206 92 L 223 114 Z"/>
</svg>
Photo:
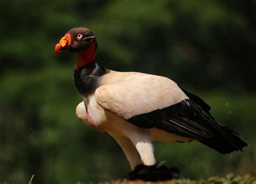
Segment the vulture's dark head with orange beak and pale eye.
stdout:
<svg viewBox="0 0 256 184">
<path fill-rule="evenodd" d="M 85 27 L 76 27 L 69 30 L 55 46 L 57 54 L 63 52 L 80 52 L 90 49 L 95 53 L 97 40 L 95 34 Z"/>
</svg>

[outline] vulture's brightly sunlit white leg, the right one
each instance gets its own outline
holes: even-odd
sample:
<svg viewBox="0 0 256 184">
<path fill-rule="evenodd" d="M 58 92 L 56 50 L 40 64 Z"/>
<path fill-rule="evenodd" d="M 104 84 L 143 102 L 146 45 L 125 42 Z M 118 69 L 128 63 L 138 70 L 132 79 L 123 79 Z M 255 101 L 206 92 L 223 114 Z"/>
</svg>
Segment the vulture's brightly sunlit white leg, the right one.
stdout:
<svg viewBox="0 0 256 184">
<path fill-rule="evenodd" d="M 147 130 L 140 129 L 140 131 L 134 132 L 130 139 L 139 152 L 144 165 L 152 166 L 156 164 L 156 159 L 154 159 L 154 147 Z"/>
</svg>

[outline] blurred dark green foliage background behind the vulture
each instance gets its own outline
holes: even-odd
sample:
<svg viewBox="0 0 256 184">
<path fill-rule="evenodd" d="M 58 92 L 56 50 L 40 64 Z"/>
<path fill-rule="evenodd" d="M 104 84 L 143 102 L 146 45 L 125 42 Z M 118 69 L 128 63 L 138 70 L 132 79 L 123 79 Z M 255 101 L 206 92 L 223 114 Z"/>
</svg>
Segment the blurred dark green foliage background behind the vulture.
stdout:
<svg viewBox="0 0 256 184">
<path fill-rule="evenodd" d="M 130 166 L 106 133 L 81 123 L 72 81 L 77 54 L 56 55 L 72 27 L 97 36 L 109 69 L 167 76 L 211 105 L 249 146 L 221 155 L 197 142 L 155 144 L 185 178 L 255 174 L 256 2 L 234 0 L 1 2 L 0 182 L 76 183 L 123 178 Z"/>
</svg>

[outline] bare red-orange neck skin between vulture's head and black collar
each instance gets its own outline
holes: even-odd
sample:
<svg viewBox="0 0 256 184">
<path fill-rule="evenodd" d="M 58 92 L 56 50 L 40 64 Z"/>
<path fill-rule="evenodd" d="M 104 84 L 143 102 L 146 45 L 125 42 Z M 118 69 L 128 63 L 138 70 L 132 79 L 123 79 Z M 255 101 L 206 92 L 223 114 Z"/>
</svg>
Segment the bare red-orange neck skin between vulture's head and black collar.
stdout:
<svg viewBox="0 0 256 184">
<path fill-rule="evenodd" d="M 78 52 L 78 59 L 76 64 L 76 69 L 90 63 L 94 60 L 96 55 L 96 40 L 93 40 L 91 46 L 84 51 Z"/>
</svg>

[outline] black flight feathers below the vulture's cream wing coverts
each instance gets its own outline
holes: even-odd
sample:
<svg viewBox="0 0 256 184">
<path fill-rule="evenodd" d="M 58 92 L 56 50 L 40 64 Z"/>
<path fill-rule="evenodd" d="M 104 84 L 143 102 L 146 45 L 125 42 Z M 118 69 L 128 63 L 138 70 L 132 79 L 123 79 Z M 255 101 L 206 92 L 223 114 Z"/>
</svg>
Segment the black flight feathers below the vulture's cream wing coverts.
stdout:
<svg viewBox="0 0 256 184">
<path fill-rule="evenodd" d="M 197 139 L 222 154 L 242 150 L 247 145 L 232 129 L 217 123 L 207 112 L 209 108 L 203 107 L 187 99 L 164 109 L 134 116 L 127 121 L 140 128 L 157 128 Z"/>
</svg>

